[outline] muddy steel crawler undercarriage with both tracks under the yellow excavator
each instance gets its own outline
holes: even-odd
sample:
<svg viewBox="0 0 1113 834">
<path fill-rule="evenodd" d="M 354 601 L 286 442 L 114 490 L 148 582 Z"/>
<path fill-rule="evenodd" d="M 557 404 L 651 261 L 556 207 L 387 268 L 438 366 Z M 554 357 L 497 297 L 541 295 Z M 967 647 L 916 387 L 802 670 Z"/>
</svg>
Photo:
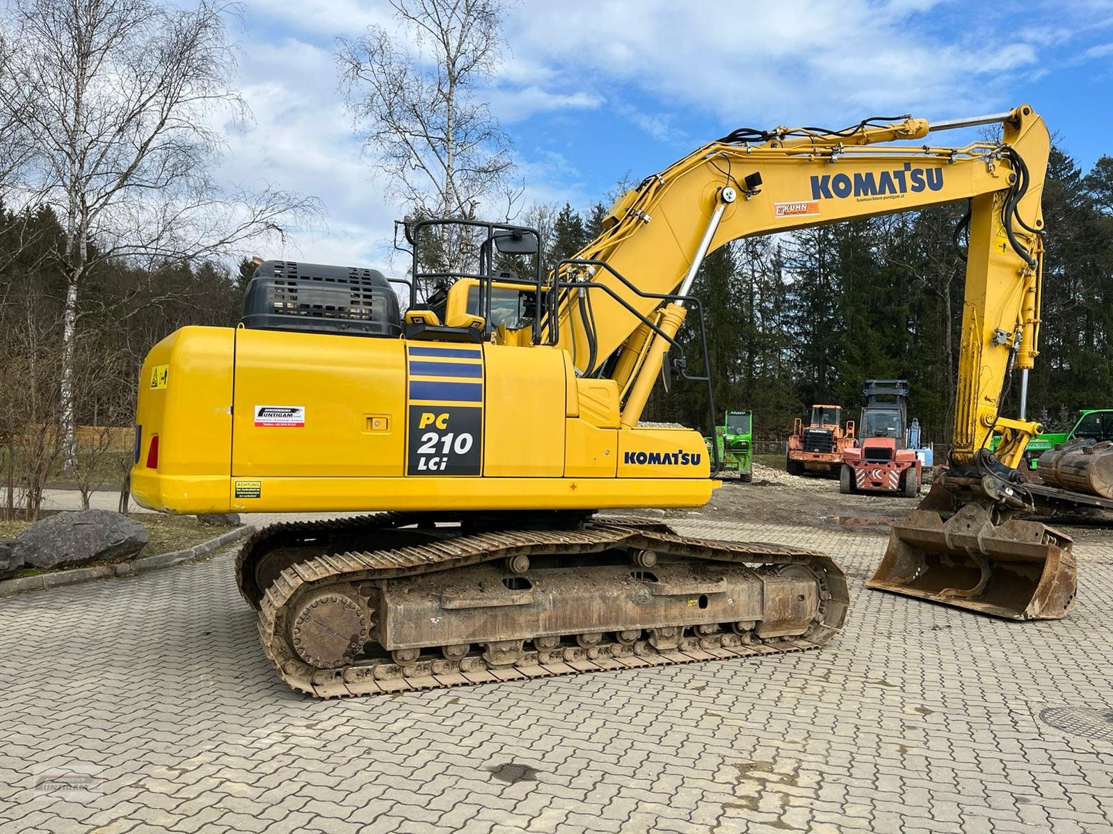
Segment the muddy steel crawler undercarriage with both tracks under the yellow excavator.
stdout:
<svg viewBox="0 0 1113 834">
<path fill-rule="evenodd" d="M 236 575 L 282 678 L 326 698 L 807 651 L 848 605 L 821 553 L 611 517 L 279 524 Z"/>
</svg>

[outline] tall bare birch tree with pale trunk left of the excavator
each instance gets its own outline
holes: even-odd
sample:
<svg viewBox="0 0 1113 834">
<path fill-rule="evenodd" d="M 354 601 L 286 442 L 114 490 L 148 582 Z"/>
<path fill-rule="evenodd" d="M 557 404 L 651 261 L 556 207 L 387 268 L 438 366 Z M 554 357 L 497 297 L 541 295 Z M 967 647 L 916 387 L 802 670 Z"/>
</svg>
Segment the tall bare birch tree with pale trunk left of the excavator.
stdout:
<svg viewBox="0 0 1113 834">
<path fill-rule="evenodd" d="M 157 0 L 12 0 L 4 26 L 8 82 L 0 125 L 30 149 L 26 205 L 50 206 L 65 247 L 60 428 L 77 466 L 75 356 L 80 292 L 111 259 L 207 258 L 282 234 L 315 202 L 282 190 L 228 191 L 210 177 L 218 118 L 246 106 L 232 87 L 226 16 Z"/>
</svg>

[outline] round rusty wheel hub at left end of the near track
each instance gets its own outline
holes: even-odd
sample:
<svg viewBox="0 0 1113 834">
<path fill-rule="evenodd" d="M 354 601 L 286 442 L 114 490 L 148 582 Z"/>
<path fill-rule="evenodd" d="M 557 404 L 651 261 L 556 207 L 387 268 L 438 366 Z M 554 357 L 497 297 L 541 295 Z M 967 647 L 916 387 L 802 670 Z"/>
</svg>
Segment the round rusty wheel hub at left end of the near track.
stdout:
<svg viewBox="0 0 1113 834">
<path fill-rule="evenodd" d="M 332 669 L 351 663 L 371 633 L 371 612 L 351 586 L 311 592 L 290 612 L 289 642 L 311 666 Z"/>
</svg>

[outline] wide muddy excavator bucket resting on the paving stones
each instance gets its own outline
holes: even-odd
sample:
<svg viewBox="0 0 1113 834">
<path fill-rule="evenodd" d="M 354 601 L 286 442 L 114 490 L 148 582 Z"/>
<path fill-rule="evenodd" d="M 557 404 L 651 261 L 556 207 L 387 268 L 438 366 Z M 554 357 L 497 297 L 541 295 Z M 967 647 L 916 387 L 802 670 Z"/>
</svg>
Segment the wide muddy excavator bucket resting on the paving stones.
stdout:
<svg viewBox="0 0 1113 834">
<path fill-rule="evenodd" d="M 1071 537 L 1038 522 L 995 525 L 967 504 L 944 522 L 914 509 L 893 527 L 866 587 L 1007 619 L 1058 619 L 1074 606 Z"/>
</svg>

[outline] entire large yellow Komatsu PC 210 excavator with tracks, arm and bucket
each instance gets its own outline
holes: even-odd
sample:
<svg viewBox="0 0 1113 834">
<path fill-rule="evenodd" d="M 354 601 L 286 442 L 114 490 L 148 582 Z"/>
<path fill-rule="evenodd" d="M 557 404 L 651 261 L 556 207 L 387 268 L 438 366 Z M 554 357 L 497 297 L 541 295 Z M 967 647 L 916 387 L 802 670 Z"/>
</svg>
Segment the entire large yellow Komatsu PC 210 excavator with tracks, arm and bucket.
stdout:
<svg viewBox="0 0 1113 834">
<path fill-rule="evenodd" d="M 1002 141 L 912 143 L 991 122 Z M 623 195 L 549 274 L 534 230 L 452 219 L 404 224 L 407 279 L 264 262 L 238 327 L 186 327 L 148 355 L 132 492 L 170 513 L 377 510 L 274 525 L 237 556 L 267 656 L 316 696 L 818 647 L 848 605 L 826 555 L 597 512 L 698 507 L 718 486 L 698 433 L 640 425 L 662 373 L 710 388 L 677 338 L 689 310 L 702 337 L 691 288 L 707 252 L 968 200 L 954 449 L 935 490 L 959 508 L 914 512 L 870 584 L 1063 616 L 1070 539 L 1011 517 L 1032 508 L 1015 467 L 1041 429 L 998 408 L 1036 356 L 1047 156 L 1027 106 L 740 129 Z M 460 240 L 467 266 L 445 255 Z"/>
</svg>

